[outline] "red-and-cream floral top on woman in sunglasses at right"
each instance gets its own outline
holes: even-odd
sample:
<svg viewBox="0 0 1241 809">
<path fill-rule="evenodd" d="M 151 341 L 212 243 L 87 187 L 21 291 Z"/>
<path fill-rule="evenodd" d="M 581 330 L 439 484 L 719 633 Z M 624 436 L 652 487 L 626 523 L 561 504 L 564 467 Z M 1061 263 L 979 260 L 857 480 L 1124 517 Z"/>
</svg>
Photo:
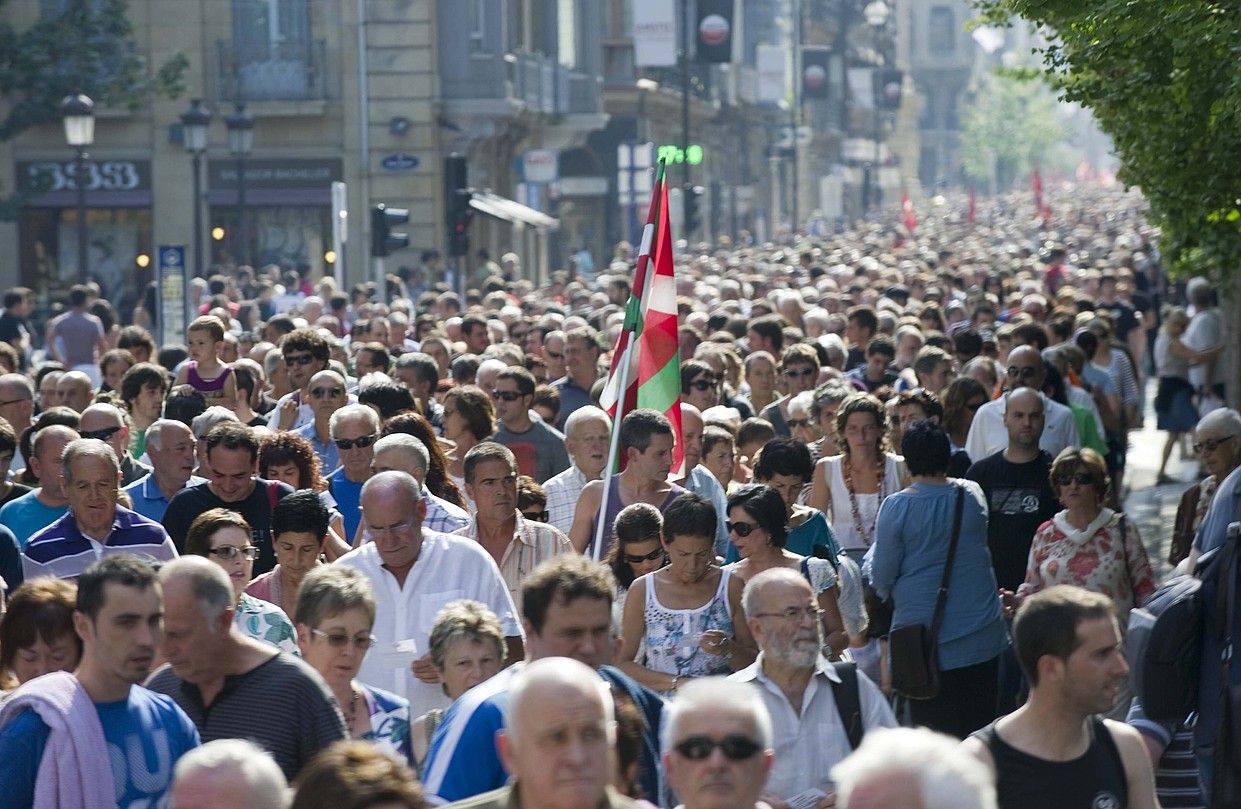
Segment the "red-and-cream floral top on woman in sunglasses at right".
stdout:
<svg viewBox="0 0 1241 809">
<path fill-rule="evenodd" d="M 1111 509 L 1100 511 L 1085 530 L 1069 524 L 1067 511 L 1044 522 L 1030 545 L 1025 583 L 1018 593 L 1030 596 L 1052 584 L 1076 584 L 1109 596 L 1128 614 L 1155 592 L 1138 526 Z"/>
</svg>

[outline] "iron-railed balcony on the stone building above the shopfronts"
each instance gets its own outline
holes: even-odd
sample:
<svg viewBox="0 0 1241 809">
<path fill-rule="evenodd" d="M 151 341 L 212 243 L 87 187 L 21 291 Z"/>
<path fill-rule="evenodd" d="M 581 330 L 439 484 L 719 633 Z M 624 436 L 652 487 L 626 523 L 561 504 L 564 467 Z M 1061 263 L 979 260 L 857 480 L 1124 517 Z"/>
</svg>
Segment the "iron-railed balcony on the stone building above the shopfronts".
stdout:
<svg viewBox="0 0 1241 809">
<path fill-rule="evenodd" d="M 323 40 L 238 50 L 216 42 L 216 92 L 221 101 L 299 102 L 328 98 Z"/>
</svg>

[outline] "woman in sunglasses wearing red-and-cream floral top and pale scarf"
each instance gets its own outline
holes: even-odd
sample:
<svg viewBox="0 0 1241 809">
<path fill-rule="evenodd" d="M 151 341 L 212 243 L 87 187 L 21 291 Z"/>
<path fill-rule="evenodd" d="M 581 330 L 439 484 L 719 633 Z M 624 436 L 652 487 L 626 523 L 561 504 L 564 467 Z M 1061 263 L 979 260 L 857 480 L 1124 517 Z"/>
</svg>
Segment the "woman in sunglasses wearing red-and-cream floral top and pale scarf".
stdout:
<svg viewBox="0 0 1241 809">
<path fill-rule="evenodd" d="M 1000 591 L 1015 612 L 1026 596 L 1054 584 L 1076 584 L 1109 596 L 1126 625 L 1129 610 L 1155 591 L 1150 560 L 1138 526 L 1103 506 L 1111 480 L 1093 449 L 1069 447 L 1051 463 L 1051 490 L 1064 507 L 1044 522 L 1030 545 L 1025 582 L 1016 594 Z"/>
</svg>

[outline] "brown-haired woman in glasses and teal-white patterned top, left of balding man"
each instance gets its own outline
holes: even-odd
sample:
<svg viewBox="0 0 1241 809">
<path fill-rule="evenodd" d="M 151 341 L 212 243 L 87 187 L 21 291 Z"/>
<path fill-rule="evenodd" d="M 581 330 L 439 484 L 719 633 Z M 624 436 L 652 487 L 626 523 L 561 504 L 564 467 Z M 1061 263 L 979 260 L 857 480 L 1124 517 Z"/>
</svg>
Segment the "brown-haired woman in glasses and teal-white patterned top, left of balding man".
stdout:
<svg viewBox="0 0 1241 809">
<path fill-rule="evenodd" d="M 251 536 L 249 524 L 240 514 L 228 509 L 211 509 L 190 524 L 185 534 L 185 552 L 190 556 L 205 556 L 228 573 L 237 598 L 233 608 L 233 624 L 237 629 L 295 655 L 298 644 L 293 623 L 284 610 L 246 594 L 254 560 L 258 558 L 258 548 L 251 545 Z"/>
</svg>

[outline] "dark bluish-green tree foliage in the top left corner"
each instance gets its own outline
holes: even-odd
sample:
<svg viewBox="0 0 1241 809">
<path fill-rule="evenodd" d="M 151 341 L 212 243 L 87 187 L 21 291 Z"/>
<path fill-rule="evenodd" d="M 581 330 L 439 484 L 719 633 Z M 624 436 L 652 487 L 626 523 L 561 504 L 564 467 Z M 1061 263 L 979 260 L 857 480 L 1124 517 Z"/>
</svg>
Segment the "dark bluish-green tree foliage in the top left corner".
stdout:
<svg viewBox="0 0 1241 809">
<path fill-rule="evenodd" d="M 2 5 L 2 0 L 0 0 Z M 61 99 L 82 92 L 99 107 L 137 109 L 153 93 L 184 92 L 189 61 L 151 68 L 137 52 L 125 0 L 69 0 L 58 17 L 22 31 L 0 24 L 0 140 L 60 120 Z"/>
</svg>

